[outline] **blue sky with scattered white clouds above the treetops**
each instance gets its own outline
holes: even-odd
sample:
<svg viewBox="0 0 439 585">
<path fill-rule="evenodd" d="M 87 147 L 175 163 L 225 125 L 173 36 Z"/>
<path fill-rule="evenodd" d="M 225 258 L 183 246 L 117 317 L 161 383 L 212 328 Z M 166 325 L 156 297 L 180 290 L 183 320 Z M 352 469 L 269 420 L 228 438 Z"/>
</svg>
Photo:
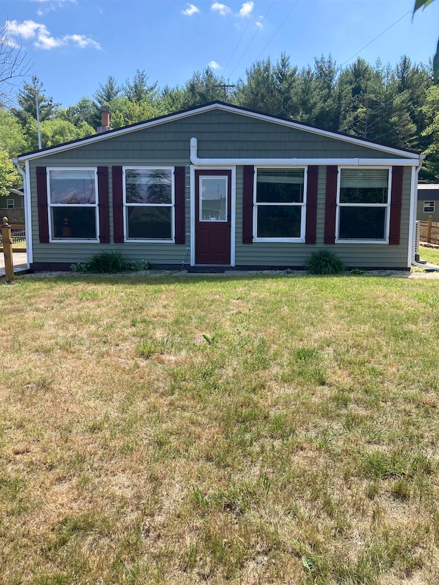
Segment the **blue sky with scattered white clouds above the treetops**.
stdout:
<svg viewBox="0 0 439 585">
<path fill-rule="evenodd" d="M 209 64 L 229 83 L 257 60 L 285 52 L 304 67 L 329 56 L 427 63 L 439 36 L 439 1 L 412 22 L 414 0 L 2 0 L 47 95 L 62 106 L 91 97 L 108 75 L 145 70 L 158 87 L 184 84 Z M 409 14 L 407 14 L 409 13 Z"/>
</svg>

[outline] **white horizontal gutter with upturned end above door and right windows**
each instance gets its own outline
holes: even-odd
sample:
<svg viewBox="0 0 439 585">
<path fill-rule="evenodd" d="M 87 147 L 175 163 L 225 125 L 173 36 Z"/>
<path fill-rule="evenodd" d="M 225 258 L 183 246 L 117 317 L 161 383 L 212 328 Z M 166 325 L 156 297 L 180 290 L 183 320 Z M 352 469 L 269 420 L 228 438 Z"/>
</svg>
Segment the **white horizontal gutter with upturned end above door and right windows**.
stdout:
<svg viewBox="0 0 439 585">
<path fill-rule="evenodd" d="M 198 167 L 221 167 L 223 165 L 254 165 L 279 167 L 296 165 L 346 165 L 353 167 L 375 167 L 396 165 L 418 167 L 418 158 L 200 158 L 198 140 L 191 138 L 191 163 Z"/>
</svg>

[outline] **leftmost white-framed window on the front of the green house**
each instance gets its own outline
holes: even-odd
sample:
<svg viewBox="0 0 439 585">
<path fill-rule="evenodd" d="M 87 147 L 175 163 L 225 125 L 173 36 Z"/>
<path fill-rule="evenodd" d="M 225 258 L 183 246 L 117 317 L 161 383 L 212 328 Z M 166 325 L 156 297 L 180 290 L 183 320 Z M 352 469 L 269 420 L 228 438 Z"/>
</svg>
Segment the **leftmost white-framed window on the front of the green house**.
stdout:
<svg viewBox="0 0 439 585">
<path fill-rule="evenodd" d="M 96 169 L 47 169 L 53 240 L 97 241 Z"/>
</svg>

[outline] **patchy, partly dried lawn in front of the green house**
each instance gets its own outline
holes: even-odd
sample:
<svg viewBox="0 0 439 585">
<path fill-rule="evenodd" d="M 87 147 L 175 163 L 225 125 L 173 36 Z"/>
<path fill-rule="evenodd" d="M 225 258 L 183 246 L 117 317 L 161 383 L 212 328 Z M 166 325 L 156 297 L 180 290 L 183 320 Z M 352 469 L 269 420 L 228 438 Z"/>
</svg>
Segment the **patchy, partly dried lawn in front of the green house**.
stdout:
<svg viewBox="0 0 439 585">
<path fill-rule="evenodd" d="M 0 582 L 437 584 L 439 282 L 0 285 Z"/>
</svg>

